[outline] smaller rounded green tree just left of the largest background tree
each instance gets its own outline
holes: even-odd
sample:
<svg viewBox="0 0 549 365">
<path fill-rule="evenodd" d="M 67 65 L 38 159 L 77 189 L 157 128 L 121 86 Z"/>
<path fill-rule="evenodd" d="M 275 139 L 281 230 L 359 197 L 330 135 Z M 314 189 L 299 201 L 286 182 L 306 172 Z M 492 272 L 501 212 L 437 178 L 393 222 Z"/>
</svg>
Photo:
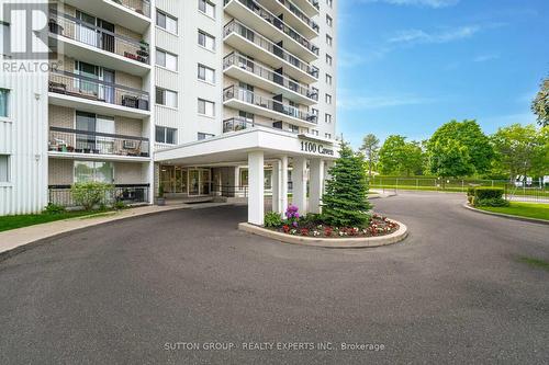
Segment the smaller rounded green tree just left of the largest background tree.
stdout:
<svg viewBox="0 0 549 365">
<path fill-rule="evenodd" d="M 419 174 L 423 172 L 423 150 L 418 142 L 406 137 L 389 136 L 379 152 L 380 172 L 383 174 Z"/>
</svg>

